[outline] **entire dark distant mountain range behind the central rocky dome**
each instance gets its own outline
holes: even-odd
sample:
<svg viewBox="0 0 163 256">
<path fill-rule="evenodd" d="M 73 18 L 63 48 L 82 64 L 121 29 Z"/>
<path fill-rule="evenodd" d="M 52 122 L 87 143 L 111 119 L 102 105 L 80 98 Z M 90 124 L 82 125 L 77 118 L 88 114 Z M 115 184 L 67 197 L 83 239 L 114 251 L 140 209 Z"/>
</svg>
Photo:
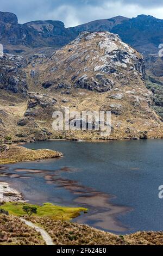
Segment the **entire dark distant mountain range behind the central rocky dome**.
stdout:
<svg viewBox="0 0 163 256">
<path fill-rule="evenodd" d="M 22 51 L 26 51 L 26 47 L 59 48 L 84 31 L 118 34 L 124 42 L 147 57 L 158 54 L 158 46 L 163 41 L 163 20 L 150 15 L 139 15 L 132 19 L 117 16 L 65 28 L 61 21 L 32 21 L 20 25 L 15 14 L 0 12 L 0 42 L 9 52 L 11 49 L 8 45 L 22 46 Z"/>
</svg>

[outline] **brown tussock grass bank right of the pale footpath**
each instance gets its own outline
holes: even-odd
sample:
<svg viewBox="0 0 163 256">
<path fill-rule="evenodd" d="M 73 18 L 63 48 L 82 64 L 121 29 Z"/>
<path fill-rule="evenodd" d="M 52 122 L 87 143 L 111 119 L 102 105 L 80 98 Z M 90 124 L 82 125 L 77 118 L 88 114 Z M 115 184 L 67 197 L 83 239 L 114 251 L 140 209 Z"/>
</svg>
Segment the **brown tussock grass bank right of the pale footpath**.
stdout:
<svg viewBox="0 0 163 256">
<path fill-rule="evenodd" d="M 30 217 L 52 237 L 55 245 L 163 245 L 163 232 L 137 232 L 118 236 L 88 225 Z"/>
</svg>

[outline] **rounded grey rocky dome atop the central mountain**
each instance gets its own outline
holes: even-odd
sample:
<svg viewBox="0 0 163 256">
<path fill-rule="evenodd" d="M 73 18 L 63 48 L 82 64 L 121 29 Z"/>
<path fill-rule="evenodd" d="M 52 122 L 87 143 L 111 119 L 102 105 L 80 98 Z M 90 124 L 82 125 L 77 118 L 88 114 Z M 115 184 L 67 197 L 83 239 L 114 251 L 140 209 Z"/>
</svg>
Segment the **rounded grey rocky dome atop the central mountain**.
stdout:
<svg viewBox="0 0 163 256">
<path fill-rule="evenodd" d="M 130 80 L 138 83 L 145 74 L 141 54 L 109 32 L 81 33 L 55 52 L 44 69 L 44 79 L 55 88 L 64 83 L 97 92 L 127 86 Z"/>
</svg>

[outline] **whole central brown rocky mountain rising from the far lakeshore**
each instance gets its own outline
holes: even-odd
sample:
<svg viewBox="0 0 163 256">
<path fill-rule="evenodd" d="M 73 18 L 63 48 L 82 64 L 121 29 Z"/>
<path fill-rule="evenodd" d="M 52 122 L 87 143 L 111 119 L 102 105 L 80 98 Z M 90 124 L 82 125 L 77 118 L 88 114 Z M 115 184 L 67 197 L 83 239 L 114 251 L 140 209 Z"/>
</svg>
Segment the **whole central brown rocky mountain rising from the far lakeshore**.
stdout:
<svg viewBox="0 0 163 256">
<path fill-rule="evenodd" d="M 0 68 L 7 74 L 7 81 L 15 77 L 15 72 L 18 80 L 12 87 L 3 82 L 1 139 L 105 138 L 96 130 L 53 131 L 52 113 L 64 112 L 65 107 L 80 113 L 111 111 L 111 135 L 107 139 L 163 136 L 162 122 L 152 108 L 153 93 L 145 85 L 143 57 L 118 35 L 83 32 L 51 58 L 35 54 L 26 64 L 19 56 L 4 54 L 1 58 Z M 24 64 L 15 67 L 14 59 Z M 24 73 L 27 86 L 22 87 Z"/>
</svg>

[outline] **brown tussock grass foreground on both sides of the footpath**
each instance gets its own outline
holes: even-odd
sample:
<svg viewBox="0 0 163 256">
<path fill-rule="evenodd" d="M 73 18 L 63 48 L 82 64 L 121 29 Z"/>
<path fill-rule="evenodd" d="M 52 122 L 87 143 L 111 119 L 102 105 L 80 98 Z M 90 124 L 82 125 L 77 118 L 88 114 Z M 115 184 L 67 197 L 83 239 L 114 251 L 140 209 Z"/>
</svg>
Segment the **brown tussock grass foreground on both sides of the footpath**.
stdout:
<svg viewBox="0 0 163 256">
<path fill-rule="evenodd" d="M 55 245 L 163 245 L 163 232 L 139 231 L 118 236 L 88 225 L 56 221 L 45 217 L 27 217 L 44 228 Z M 45 245 L 42 237 L 16 216 L 0 214 L 0 245 Z"/>
</svg>

